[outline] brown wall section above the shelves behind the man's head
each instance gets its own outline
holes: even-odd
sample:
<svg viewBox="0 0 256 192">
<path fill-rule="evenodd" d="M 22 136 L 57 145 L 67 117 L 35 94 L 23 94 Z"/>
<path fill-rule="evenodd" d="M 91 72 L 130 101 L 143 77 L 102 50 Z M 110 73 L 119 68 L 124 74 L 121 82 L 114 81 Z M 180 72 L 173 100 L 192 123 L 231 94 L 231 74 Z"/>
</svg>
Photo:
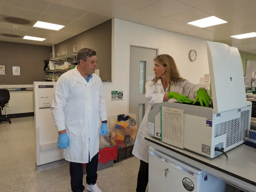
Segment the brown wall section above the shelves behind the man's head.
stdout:
<svg viewBox="0 0 256 192">
<path fill-rule="evenodd" d="M 54 46 L 55 53 L 63 55 L 73 52 L 73 45 L 91 48 L 96 51 L 100 78 L 103 81 L 111 81 L 111 43 L 112 43 L 112 22 L 108 20 L 83 33 L 67 39 Z"/>
</svg>

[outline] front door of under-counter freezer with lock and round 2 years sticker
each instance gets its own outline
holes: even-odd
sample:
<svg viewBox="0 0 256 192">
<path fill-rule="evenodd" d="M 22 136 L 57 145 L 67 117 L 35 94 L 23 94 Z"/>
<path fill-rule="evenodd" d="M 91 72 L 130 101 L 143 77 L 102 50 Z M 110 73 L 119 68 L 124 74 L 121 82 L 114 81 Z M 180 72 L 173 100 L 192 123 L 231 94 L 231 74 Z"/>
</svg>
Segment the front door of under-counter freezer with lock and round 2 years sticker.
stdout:
<svg viewBox="0 0 256 192">
<path fill-rule="evenodd" d="M 165 174 L 166 169 L 169 171 Z M 149 192 L 201 192 L 199 183 L 193 176 L 179 170 L 176 164 L 167 164 L 149 154 Z"/>
</svg>

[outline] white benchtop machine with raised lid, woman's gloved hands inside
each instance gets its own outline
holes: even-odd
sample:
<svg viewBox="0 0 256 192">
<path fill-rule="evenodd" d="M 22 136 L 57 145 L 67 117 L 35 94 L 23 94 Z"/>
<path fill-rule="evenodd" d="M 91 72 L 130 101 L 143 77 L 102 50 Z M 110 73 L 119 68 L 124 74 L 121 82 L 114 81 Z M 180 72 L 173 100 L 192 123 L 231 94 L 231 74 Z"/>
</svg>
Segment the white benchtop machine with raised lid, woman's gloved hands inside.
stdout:
<svg viewBox="0 0 256 192">
<path fill-rule="evenodd" d="M 244 142 L 251 124 L 239 51 L 207 42 L 212 107 L 158 103 L 148 115 L 148 134 L 169 145 L 213 158 Z"/>
</svg>

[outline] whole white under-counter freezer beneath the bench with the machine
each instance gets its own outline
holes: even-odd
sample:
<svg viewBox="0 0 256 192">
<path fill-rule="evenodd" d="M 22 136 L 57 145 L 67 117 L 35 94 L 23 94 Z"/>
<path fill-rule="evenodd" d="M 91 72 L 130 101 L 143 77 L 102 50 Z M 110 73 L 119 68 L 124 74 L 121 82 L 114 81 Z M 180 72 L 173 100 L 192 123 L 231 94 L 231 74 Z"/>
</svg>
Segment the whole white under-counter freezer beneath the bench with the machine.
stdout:
<svg viewBox="0 0 256 192">
<path fill-rule="evenodd" d="M 224 192 L 224 180 L 149 148 L 149 192 Z"/>
</svg>

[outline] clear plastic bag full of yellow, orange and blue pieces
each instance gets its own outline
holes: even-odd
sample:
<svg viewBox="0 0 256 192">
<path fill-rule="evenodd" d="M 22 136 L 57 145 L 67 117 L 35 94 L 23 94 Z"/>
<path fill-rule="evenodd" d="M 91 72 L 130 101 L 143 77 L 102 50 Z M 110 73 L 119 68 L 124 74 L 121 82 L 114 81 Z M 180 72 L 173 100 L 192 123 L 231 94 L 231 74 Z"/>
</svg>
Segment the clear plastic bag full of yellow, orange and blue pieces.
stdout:
<svg viewBox="0 0 256 192">
<path fill-rule="evenodd" d="M 113 116 L 110 119 L 111 143 L 118 148 L 125 148 L 133 145 L 137 130 L 138 127 L 135 114 L 121 114 Z"/>
</svg>

